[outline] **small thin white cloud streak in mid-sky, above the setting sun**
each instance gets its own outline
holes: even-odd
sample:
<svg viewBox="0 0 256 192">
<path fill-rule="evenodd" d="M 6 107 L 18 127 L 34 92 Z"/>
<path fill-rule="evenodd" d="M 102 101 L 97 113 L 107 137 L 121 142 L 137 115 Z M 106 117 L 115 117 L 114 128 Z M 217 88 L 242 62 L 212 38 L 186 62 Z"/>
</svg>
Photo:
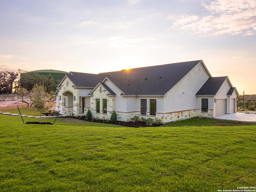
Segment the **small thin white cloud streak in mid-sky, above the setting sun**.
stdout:
<svg viewBox="0 0 256 192">
<path fill-rule="evenodd" d="M 140 48 L 142 48 L 141 46 L 138 46 L 139 43 L 145 42 L 145 41 L 154 41 L 156 39 L 154 39 L 152 36 L 148 36 L 148 37 L 142 37 L 142 38 L 112 37 L 112 38 L 108 38 L 108 40 L 111 41 L 110 47 L 120 47 L 120 48 L 140 47 Z"/>
</svg>

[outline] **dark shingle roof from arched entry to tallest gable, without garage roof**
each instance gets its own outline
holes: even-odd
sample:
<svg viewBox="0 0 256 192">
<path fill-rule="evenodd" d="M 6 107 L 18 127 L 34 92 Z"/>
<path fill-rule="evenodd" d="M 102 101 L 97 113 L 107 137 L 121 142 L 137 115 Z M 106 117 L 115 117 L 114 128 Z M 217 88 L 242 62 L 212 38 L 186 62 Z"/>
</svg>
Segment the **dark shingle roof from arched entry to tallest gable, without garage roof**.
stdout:
<svg viewBox="0 0 256 192">
<path fill-rule="evenodd" d="M 199 63 L 202 64 L 206 74 L 211 77 L 210 72 L 202 60 L 133 68 L 100 74 L 69 72 L 65 77 L 68 77 L 74 86 L 78 88 L 94 88 L 98 83 L 104 83 L 104 80 L 108 78 L 124 95 L 162 96 Z M 65 77 L 62 79 L 62 82 Z"/>
</svg>

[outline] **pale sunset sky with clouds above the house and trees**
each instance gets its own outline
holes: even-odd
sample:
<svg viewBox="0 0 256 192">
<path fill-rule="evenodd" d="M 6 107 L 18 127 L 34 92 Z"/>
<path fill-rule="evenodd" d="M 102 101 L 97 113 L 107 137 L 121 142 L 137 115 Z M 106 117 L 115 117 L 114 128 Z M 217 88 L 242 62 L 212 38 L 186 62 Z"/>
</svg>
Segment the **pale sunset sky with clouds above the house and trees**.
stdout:
<svg viewBox="0 0 256 192">
<path fill-rule="evenodd" d="M 98 74 L 193 60 L 256 94 L 256 0 L 0 0 L 0 70 Z"/>
</svg>

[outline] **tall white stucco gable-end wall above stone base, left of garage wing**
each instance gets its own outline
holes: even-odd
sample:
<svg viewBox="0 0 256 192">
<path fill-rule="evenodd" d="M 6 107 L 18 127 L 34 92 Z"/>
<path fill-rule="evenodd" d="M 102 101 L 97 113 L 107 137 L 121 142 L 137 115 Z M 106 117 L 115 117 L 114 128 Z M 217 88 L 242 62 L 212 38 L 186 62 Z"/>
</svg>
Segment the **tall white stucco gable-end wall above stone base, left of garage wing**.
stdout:
<svg viewBox="0 0 256 192">
<path fill-rule="evenodd" d="M 201 64 L 196 65 L 164 97 L 164 112 L 197 109 L 196 93 L 209 76 Z"/>
</svg>

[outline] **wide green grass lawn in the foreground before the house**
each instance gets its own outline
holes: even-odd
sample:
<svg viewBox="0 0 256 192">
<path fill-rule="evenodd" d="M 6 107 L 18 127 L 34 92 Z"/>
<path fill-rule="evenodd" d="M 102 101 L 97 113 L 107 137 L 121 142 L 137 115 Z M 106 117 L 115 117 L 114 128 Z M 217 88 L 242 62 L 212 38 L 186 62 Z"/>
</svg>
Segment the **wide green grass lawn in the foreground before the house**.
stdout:
<svg viewBox="0 0 256 192">
<path fill-rule="evenodd" d="M 236 190 L 256 186 L 255 159 L 256 124 L 193 118 L 127 128 L 58 118 L 33 125 L 0 115 L 0 191 Z"/>
</svg>

